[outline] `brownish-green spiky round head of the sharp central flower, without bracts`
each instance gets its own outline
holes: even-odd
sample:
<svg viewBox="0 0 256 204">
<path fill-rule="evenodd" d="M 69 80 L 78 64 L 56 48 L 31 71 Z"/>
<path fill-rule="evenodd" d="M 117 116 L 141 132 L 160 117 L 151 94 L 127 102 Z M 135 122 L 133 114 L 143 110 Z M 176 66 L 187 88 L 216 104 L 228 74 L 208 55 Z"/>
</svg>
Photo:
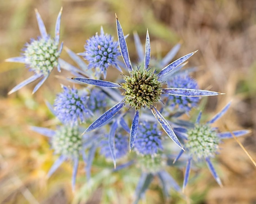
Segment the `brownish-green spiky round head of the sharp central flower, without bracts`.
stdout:
<svg viewBox="0 0 256 204">
<path fill-rule="evenodd" d="M 131 75 L 124 76 L 125 83 L 120 84 L 124 89 L 125 105 L 130 105 L 139 110 L 141 107 L 150 108 L 158 102 L 162 93 L 162 83 L 158 81 L 155 73 L 145 69 L 137 69 Z"/>
</svg>

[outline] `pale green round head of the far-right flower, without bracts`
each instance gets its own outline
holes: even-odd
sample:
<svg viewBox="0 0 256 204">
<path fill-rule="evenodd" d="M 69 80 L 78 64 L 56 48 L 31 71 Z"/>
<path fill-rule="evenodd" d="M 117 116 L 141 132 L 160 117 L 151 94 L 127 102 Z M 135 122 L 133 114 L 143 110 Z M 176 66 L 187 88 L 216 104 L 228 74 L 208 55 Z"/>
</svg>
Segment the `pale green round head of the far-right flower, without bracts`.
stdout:
<svg viewBox="0 0 256 204">
<path fill-rule="evenodd" d="M 195 124 L 195 127 L 189 129 L 187 134 L 188 141 L 185 147 L 195 160 L 214 157 L 220 142 L 215 129 L 208 124 Z"/>
</svg>

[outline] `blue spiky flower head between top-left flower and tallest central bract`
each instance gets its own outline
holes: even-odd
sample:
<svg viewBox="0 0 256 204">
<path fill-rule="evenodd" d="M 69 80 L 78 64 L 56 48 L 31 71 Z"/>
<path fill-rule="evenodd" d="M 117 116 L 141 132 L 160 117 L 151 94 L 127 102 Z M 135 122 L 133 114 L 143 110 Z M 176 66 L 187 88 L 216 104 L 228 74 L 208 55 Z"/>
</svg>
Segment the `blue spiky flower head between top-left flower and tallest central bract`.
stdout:
<svg viewBox="0 0 256 204">
<path fill-rule="evenodd" d="M 107 69 L 110 65 L 122 72 L 117 64 L 117 57 L 121 55 L 118 49 L 118 42 L 114 41 L 111 35 L 105 34 L 102 27 L 101 34 L 98 35 L 96 33 L 86 43 L 84 45 L 85 51 L 79 53 L 79 55 L 83 56 L 89 62 L 89 69 L 95 68 L 97 75 L 103 73 L 104 78 L 106 78 Z"/>
</svg>

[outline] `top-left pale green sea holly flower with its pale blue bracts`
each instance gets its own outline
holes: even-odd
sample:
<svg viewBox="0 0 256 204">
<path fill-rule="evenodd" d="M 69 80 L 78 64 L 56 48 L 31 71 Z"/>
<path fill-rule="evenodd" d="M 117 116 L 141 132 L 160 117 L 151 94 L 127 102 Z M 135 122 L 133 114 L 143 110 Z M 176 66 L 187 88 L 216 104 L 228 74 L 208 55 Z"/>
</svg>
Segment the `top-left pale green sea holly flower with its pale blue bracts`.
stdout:
<svg viewBox="0 0 256 204">
<path fill-rule="evenodd" d="M 57 67 L 58 71 L 60 72 L 60 64 L 58 59 L 63 48 L 63 43 L 61 43 L 60 49 L 58 50 L 60 42 L 61 13 L 62 8 L 56 20 L 55 37 L 51 38 L 46 32 L 45 25 L 40 14 L 37 10 L 35 10 L 41 36 L 39 36 L 37 39 L 31 39 L 30 43 L 25 44 L 24 53 L 22 53 L 22 56 L 12 57 L 5 60 L 8 62 L 26 64 L 26 66 L 29 67 L 29 71 L 34 72 L 34 75 L 12 88 L 8 94 L 19 90 L 20 88 L 34 82 L 39 78 L 42 78 L 42 80 L 35 86 L 33 90 L 34 94 L 49 77 L 54 67 Z"/>
</svg>

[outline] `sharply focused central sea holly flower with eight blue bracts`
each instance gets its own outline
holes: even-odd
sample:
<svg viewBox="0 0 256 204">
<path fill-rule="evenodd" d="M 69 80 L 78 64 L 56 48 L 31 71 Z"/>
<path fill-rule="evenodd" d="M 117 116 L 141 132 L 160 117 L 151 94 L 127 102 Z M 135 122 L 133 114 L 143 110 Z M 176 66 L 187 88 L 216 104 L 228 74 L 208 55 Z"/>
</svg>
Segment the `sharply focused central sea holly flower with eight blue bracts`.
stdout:
<svg viewBox="0 0 256 204">
<path fill-rule="evenodd" d="M 160 102 L 161 94 L 170 94 L 170 95 L 179 95 L 184 97 L 199 97 L 199 96 L 209 96 L 209 95 L 219 95 L 221 93 L 206 91 L 206 90 L 195 90 L 189 88 L 162 88 L 163 83 L 161 78 L 167 73 L 173 71 L 180 64 L 186 61 L 189 57 L 191 57 L 195 52 L 185 55 L 184 57 L 179 58 L 173 63 L 167 65 L 163 68 L 159 73 L 155 73 L 155 71 L 151 71 L 148 69 L 150 63 L 150 39 L 147 31 L 146 36 L 146 49 L 145 49 L 145 57 L 144 57 L 144 67 L 133 69 L 131 65 L 131 61 L 129 58 L 129 53 L 124 37 L 123 30 L 121 25 L 116 18 L 117 23 L 117 35 L 118 42 L 121 50 L 121 55 L 123 57 L 124 63 L 126 65 L 127 71 L 129 75 L 124 76 L 124 83 L 113 83 L 104 80 L 98 79 L 89 79 L 89 78 L 72 78 L 75 81 L 97 85 L 101 87 L 107 88 L 120 88 L 124 90 L 122 95 L 124 95 L 124 99 L 122 99 L 119 103 L 114 105 L 108 111 L 106 111 L 102 116 L 100 116 L 97 120 L 95 120 L 87 129 L 86 132 L 92 131 L 95 128 L 98 128 L 110 118 L 115 116 L 118 111 L 120 111 L 125 105 L 129 105 L 135 108 L 135 116 L 132 121 L 131 132 L 130 132 L 130 151 L 132 149 L 133 143 L 135 141 L 136 133 L 138 130 L 139 124 L 139 112 L 142 107 L 148 108 L 151 110 L 159 124 L 162 126 L 163 130 L 167 133 L 167 135 L 180 147 L 180 142 L 178 141 L 176 135 L 173 132 L 173 129 L 169 125 L 169 123 L 163 118 L 162 114 L 157 110 L 154 106 L 154 103 Z"/>
</svg>

